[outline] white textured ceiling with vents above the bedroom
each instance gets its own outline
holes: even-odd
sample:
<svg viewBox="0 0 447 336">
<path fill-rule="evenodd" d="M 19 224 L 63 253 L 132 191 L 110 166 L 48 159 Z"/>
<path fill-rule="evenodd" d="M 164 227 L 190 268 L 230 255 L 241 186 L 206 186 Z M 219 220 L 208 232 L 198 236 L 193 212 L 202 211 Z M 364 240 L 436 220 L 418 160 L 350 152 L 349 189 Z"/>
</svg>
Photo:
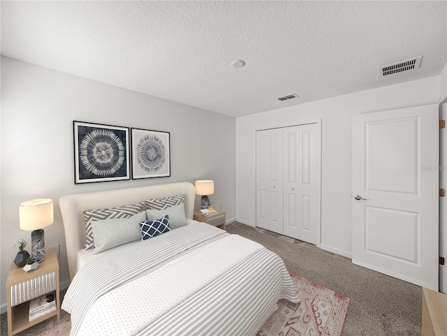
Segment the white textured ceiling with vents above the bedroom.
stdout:
<svg viewBox="0 0 447 336">
<path fill-rule="evenodd" d="M 447 1 L 1 1 L 1 54 L 230 116 L 439 75 Z M 416 71 L 378 68 L 423 56 Z M 232 68 L 243 59 L 246 66 Z M 279 96 L 300 98 L 278 101 Z"/>
</svg>

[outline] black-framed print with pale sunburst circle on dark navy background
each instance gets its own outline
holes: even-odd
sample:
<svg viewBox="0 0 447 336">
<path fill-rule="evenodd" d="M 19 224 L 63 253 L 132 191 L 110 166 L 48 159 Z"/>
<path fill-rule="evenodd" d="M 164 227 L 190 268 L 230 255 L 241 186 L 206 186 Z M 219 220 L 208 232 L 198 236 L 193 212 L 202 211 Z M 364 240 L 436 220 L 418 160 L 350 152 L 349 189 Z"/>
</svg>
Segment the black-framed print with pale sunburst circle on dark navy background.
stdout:
<svg viewBox="0 0 447 336">
<path fill-rule="evenodd" d="M 130 180 L 129 127 L 73 122 L 75 184 Z"/>
</svg>

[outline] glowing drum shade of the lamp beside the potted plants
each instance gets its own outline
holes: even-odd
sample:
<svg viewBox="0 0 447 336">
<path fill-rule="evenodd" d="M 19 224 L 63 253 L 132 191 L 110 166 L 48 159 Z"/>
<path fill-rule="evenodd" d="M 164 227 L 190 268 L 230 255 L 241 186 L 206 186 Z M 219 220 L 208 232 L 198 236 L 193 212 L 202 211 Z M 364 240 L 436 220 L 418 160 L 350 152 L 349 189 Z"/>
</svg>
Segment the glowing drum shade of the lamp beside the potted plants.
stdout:
<svg viewBox="0 0 447 336">
<path fill-rule="evenodd" d="M 20 230 L 33 231 L 54 222 L 53 200 L 37 198 L 25 200 L 19 205 Z"/>
</svg>

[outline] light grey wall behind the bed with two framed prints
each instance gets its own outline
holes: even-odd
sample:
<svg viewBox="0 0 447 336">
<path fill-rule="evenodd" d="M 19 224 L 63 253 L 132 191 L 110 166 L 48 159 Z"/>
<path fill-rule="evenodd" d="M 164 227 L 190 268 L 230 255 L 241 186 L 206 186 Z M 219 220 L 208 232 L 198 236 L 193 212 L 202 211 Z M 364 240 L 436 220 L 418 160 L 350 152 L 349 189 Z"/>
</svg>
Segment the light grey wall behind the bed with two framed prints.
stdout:
<svg viewBox="0 0 447 336">
<path fill-rule="evenodd" d="M 73 120 L 170 132 L 171 176 L 74 184 Z M 214 180 L 212 203 L 221 203 L 227 220 L 234 219 L 233 117 L 1 57 L 1 312 L 14 244 L 24 238 L 31 245 L 31 233 L 19 228 L 20 202 L 54 200 L 45 247 L 60 244 L 61 286 L 67 286 L 60 196 L 200 179 Z"/>
</svg>

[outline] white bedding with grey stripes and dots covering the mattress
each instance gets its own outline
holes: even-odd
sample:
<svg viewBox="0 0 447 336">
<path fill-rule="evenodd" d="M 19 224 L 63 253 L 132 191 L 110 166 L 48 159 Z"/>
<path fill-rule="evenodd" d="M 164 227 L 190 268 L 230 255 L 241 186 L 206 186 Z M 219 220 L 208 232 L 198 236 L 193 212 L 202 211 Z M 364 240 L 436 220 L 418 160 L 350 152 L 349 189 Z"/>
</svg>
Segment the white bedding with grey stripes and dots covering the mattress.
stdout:
<svg viewBox="0 0 447 336">
<path fill-rule="evenodd" d="M 254 335 L 298 302 L 276 254 L 196 221 L 107 252 L 68 288 L 71 335 Z"/>
</svg>

